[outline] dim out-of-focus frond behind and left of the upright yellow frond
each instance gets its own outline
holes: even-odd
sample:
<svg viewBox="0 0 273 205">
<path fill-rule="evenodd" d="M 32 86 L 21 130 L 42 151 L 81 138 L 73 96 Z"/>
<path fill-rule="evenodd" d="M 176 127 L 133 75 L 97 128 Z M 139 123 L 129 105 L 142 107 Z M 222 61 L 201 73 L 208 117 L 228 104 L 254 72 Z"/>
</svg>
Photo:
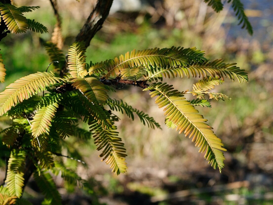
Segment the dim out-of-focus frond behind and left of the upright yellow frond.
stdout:
<svg viewBox="0 0 273 205">
<path fill-rule="evenodd" d="M 55 69 L 61 70 L 65 62 L 63 51 L 61 51 L 57 47 L 57 45 L 52 42 L 45 43 L 45 47 L 51 62 L 55 62 L 55 61 L 59 62 L 59 63 L 57 62 L 53 63 Z"/>
</svg>

